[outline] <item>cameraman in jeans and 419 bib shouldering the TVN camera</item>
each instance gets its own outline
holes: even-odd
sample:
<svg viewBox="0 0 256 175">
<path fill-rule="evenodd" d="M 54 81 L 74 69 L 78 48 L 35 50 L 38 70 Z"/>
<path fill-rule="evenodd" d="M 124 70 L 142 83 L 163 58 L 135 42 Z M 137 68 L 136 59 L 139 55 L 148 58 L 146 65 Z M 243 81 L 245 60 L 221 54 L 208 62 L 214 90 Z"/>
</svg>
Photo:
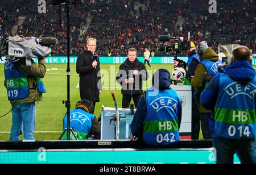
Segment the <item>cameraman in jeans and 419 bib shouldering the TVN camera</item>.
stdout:
<svg viewBox="0 0 256 175">
<path fill-rule="evenodd" d="M 12 106 L 11 113 L 13 114 L 10 140 L 18 141 L 20 139 L 23 125 L 23 141 L 34 141 L 36 117 L 35 102 L 42 101 L 42 93 L 46 93 L 46 89 L 40 79 L 46 74 L 46 60 L 44 60 L 43 56 L 39 57 L 39 53 L 48 51 L 48 49 L 36 44 L 35 40 L 33 40 L 34 38 L 28 38 L 31 40 L 23 40 L 19 36 L 15 36 L 11 39 L 17 42 L 26 40 L 26 43 L 31 41 L 34 45 L 32 54 L 35 54 L 35 52 L 38 54 L 38 65 L 35 64 L 31 57 L 29 59 L 27 59 L 27 57 L 7 57 L 6 59 L 5 87 Z M 12 48 L 9 48 L 9 51 L 11 49 Z M 24 52 L 19 52 L 19 54 L 25 54 L 26 49 L 24 49 Z M 29 48 L 28 50 L 31 51 Z M 29 54 L 31 54 L 31 52 Z M 31 61 L 30 66 L 27 66 L 27 61 Z"/>
</svg>

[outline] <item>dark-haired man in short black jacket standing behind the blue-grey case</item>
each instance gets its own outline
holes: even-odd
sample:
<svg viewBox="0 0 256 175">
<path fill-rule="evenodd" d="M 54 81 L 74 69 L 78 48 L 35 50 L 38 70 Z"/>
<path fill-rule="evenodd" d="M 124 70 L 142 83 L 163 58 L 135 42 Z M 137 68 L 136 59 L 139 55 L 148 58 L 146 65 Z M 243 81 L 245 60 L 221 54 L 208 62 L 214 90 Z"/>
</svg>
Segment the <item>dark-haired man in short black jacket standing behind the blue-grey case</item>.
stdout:
<svg viewBox="0 0 256 175">
<path fill-rule="evenodd" d="M 128 58 L 119 66 L 117 82 L 122 85 L 122 107 L 129 107 L 131 98 L 137 107 L 139 98 L 143 93 L 142 83 L 148 78 L 148 73 L 143 62 L 137 59 L 137 50 L 130 48 Z"/>
</svg>

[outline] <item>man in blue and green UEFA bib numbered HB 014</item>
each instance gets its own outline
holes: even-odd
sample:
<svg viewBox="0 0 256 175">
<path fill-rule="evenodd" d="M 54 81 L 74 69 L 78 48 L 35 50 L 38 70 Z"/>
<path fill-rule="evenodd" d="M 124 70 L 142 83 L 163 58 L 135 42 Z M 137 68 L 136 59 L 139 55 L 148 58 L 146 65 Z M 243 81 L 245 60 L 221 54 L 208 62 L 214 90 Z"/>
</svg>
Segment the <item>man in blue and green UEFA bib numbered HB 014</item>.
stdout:
<svg viewBox="0 0 256 175">
<path fill-rule="evenodd" d="M 233 49 L 228 58 L 230 65 L 201 94 L 202 105 L 214 110 L 213 147 L 217 164 L 232 164 L 234 153 L 241 163 L 256 163 L 256 74 L 251 56 L 245 46 Z"/>
</svg>

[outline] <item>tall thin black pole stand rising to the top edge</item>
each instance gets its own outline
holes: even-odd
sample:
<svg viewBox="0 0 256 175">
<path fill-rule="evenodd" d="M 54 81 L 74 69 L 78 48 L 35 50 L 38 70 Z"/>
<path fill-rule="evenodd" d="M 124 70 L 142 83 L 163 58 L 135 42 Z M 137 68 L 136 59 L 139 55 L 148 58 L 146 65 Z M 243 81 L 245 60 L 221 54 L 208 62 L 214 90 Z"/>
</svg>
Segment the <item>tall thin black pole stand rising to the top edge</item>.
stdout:
<svg viewBox="0 0 256 175">
<path fill-rule="evenodd" d="M 68 57 L 68 63 L 67 63 L 67 101 L 63 101 L 63 104 L 65 104 L 65 107 L 67 108 L 67 140 L 70 140 L 70 133 L 73 134 L 71 130 L 73 128 L 70 127 L 70 108 L 71 108 L 71 102 L 70 102 L 70 66 L 69 66 L 69 57 L 70 57 L 70 27 L 69 27 L 69 16 L 70 16 L 70 5 L 75 5 L 77 0 L 52 0 L 51 5 L 61 5 L 61 3 L 65 3 L 65 10 L 67 18 L 67 57 Z M 59 8 L 60 10 L 60 8 Z M 61 20 L 60 20 L 61 23 Z M 75 136 L 75 135 L 74 135 Z M 76 138 L 76 136 L 75 136 Z"/>
</svg>

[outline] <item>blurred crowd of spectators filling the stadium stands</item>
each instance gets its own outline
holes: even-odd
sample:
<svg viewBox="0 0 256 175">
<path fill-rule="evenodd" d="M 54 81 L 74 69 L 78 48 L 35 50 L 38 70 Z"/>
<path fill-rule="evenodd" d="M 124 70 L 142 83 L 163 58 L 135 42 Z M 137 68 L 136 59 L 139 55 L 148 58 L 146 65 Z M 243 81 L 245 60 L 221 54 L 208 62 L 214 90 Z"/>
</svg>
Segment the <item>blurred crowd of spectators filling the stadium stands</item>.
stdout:
<svg viewBox="0 0 256 175">
<path fill-rule="evenodd" d="M 59 7 L 49 2 L 46 14 L 39 14 L 37 1 L 1 3 L 0 41 L 11 35 L 19 16 L 26 16 L 18 25 L 19 35 L 55 36 L 59 44 L 53 55 L 67 54 L 64 6 L 60 28 Z M 129 47 L 135 47 L 138 55 L 146 47 L 158 54 L 160 35 L 187 38 L 189 31 L 195 44 L 207 40 L 215 51 L 218 44 L 241 44 L 255 52 L 255 0 L 218 1 L 216 14 L 209 13 L 209 6 L 205 0 L 81 1 L 71 7 L 71 54 L 81 53 L 88 38 L 98 39 L 99 55 L 126 55 Z M 176 25 L 179 15 L 184 19 L 180 26 Z"/>
</svg>

